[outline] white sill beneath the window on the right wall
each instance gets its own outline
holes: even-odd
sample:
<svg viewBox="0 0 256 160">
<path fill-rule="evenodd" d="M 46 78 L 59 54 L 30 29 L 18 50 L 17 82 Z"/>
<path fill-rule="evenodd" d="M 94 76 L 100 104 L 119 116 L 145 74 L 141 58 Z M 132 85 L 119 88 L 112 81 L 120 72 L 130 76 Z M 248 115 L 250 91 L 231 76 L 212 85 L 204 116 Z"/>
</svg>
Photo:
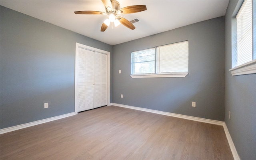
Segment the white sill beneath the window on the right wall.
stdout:
<svg viewBox="0 0 256 160">
<path fill-rule="evenodd" d="M 256 60 L 252 60 L 240 66 L 230 69 L 232 76 L 255 74 L 256 73 Z"/>
</svg>

